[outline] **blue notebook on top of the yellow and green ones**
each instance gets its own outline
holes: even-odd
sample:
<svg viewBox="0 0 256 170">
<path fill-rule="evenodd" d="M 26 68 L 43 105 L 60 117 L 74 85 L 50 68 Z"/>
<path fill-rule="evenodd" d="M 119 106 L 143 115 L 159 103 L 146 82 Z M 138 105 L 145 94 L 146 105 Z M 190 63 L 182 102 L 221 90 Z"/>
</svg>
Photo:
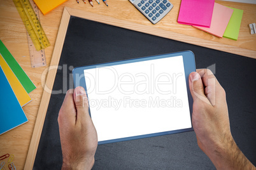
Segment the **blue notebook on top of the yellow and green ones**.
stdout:
<svg viewBox="0 0 256 170">
<path fill-rule="evenodd" d="M 27 122 L 20 103 L 11 89 L 8 79 L 0 66 L 0 134 Z"/>
</svg>

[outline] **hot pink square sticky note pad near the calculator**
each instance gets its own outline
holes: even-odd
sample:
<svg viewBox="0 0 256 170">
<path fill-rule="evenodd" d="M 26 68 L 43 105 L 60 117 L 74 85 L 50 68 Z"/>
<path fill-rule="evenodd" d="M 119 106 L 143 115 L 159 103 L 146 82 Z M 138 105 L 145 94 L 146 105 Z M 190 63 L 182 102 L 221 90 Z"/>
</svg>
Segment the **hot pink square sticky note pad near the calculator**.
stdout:
<svg viewBox="0 0 256 170">
<path fill-rule="evenodd" d="M 178 23 L 210 27 L 215 0 L 182 0 Z"/>
</svg>

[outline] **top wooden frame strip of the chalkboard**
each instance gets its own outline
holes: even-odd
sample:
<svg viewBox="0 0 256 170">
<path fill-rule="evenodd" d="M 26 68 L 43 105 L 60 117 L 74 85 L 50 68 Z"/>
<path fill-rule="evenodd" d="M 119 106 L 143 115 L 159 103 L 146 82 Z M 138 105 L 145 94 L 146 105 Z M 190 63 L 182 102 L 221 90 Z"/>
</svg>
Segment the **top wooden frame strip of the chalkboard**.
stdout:
<svg viewBox="0 0 256 170">
<path fill-rule="evenodd" d="M 187 42 L 190 44 L 195 44 L 197 46 L 204 46 L 206 48 L 217 49 L 220 51 L 225 51 L 227 53 L 234 53 L 237 55 L 243 55 L 243 56 L 256 58 L 256 51 L 253 51 L 250 49 L 244 49 L 244 48 L 239 48 L 236 46 L 231 46 L 228 44 L 222 44 L 220 42 L 209 41 L 207 39 L 202 39 L 199 37 L 187 36 L 184 34 L 172 32 L 170 30 L 163 30 L 163 29 L 159 29 L 157 27 L 152 27 L 152 25 L 142 25 L 139 23 L 133 23 L 133 22 L 125 21 L 125 20 L 118 20 L 117 18 L 97 15 L 94 13 L 90 13 L 90 12 L 82 11 L 82 10 L 76 10 L 74 8 L 69 8 L 69 7 L 67 7 L 67 9 L 71 15 L 78 16 L 80 18 L 86 18 L 88 20 L 94 20 L 97 22 L 115 25 L 118 27 L 122 27 L 124 29 L 136 30 L 138 32 L 143 32 L 146 34 L 152 34 L 154 36 L 165 37 L 168 39 L 174 39 L 176 41 Z"/>
</svg>

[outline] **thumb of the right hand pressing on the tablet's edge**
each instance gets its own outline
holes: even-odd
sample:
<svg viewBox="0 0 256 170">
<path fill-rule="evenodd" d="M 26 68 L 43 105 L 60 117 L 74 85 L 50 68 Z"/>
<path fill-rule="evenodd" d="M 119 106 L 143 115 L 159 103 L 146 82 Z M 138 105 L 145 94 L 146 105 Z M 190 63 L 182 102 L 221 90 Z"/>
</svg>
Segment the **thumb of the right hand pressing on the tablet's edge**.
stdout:
<svg viewBox="0 0 256 170">
<path fill-rule="evenodd" d="M 204 84 L 201 76 L 197 72 L 192 72 L 189 75 L 189 89 L 194 102 L 204 101 L 210 104 L 210 101 L 206 98 L 206 95 L 204 95 Z"/>
</svg>

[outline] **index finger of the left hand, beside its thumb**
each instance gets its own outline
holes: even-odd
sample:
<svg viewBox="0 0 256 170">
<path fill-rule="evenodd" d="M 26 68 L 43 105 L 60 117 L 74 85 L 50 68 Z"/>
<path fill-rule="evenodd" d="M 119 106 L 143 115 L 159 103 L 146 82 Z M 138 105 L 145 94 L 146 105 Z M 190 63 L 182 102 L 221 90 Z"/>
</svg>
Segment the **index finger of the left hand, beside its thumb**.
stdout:
<svg viewBox="0 0 256 170">
<path fill-rule="evenodd" d="M 73 100 L 74 89 L 69 89 L 66 93 L 64 101 L 59 111 L 58 122 L 69 122 L 71 124 L 76 123 L 76 108 Z"/>
</svg>

